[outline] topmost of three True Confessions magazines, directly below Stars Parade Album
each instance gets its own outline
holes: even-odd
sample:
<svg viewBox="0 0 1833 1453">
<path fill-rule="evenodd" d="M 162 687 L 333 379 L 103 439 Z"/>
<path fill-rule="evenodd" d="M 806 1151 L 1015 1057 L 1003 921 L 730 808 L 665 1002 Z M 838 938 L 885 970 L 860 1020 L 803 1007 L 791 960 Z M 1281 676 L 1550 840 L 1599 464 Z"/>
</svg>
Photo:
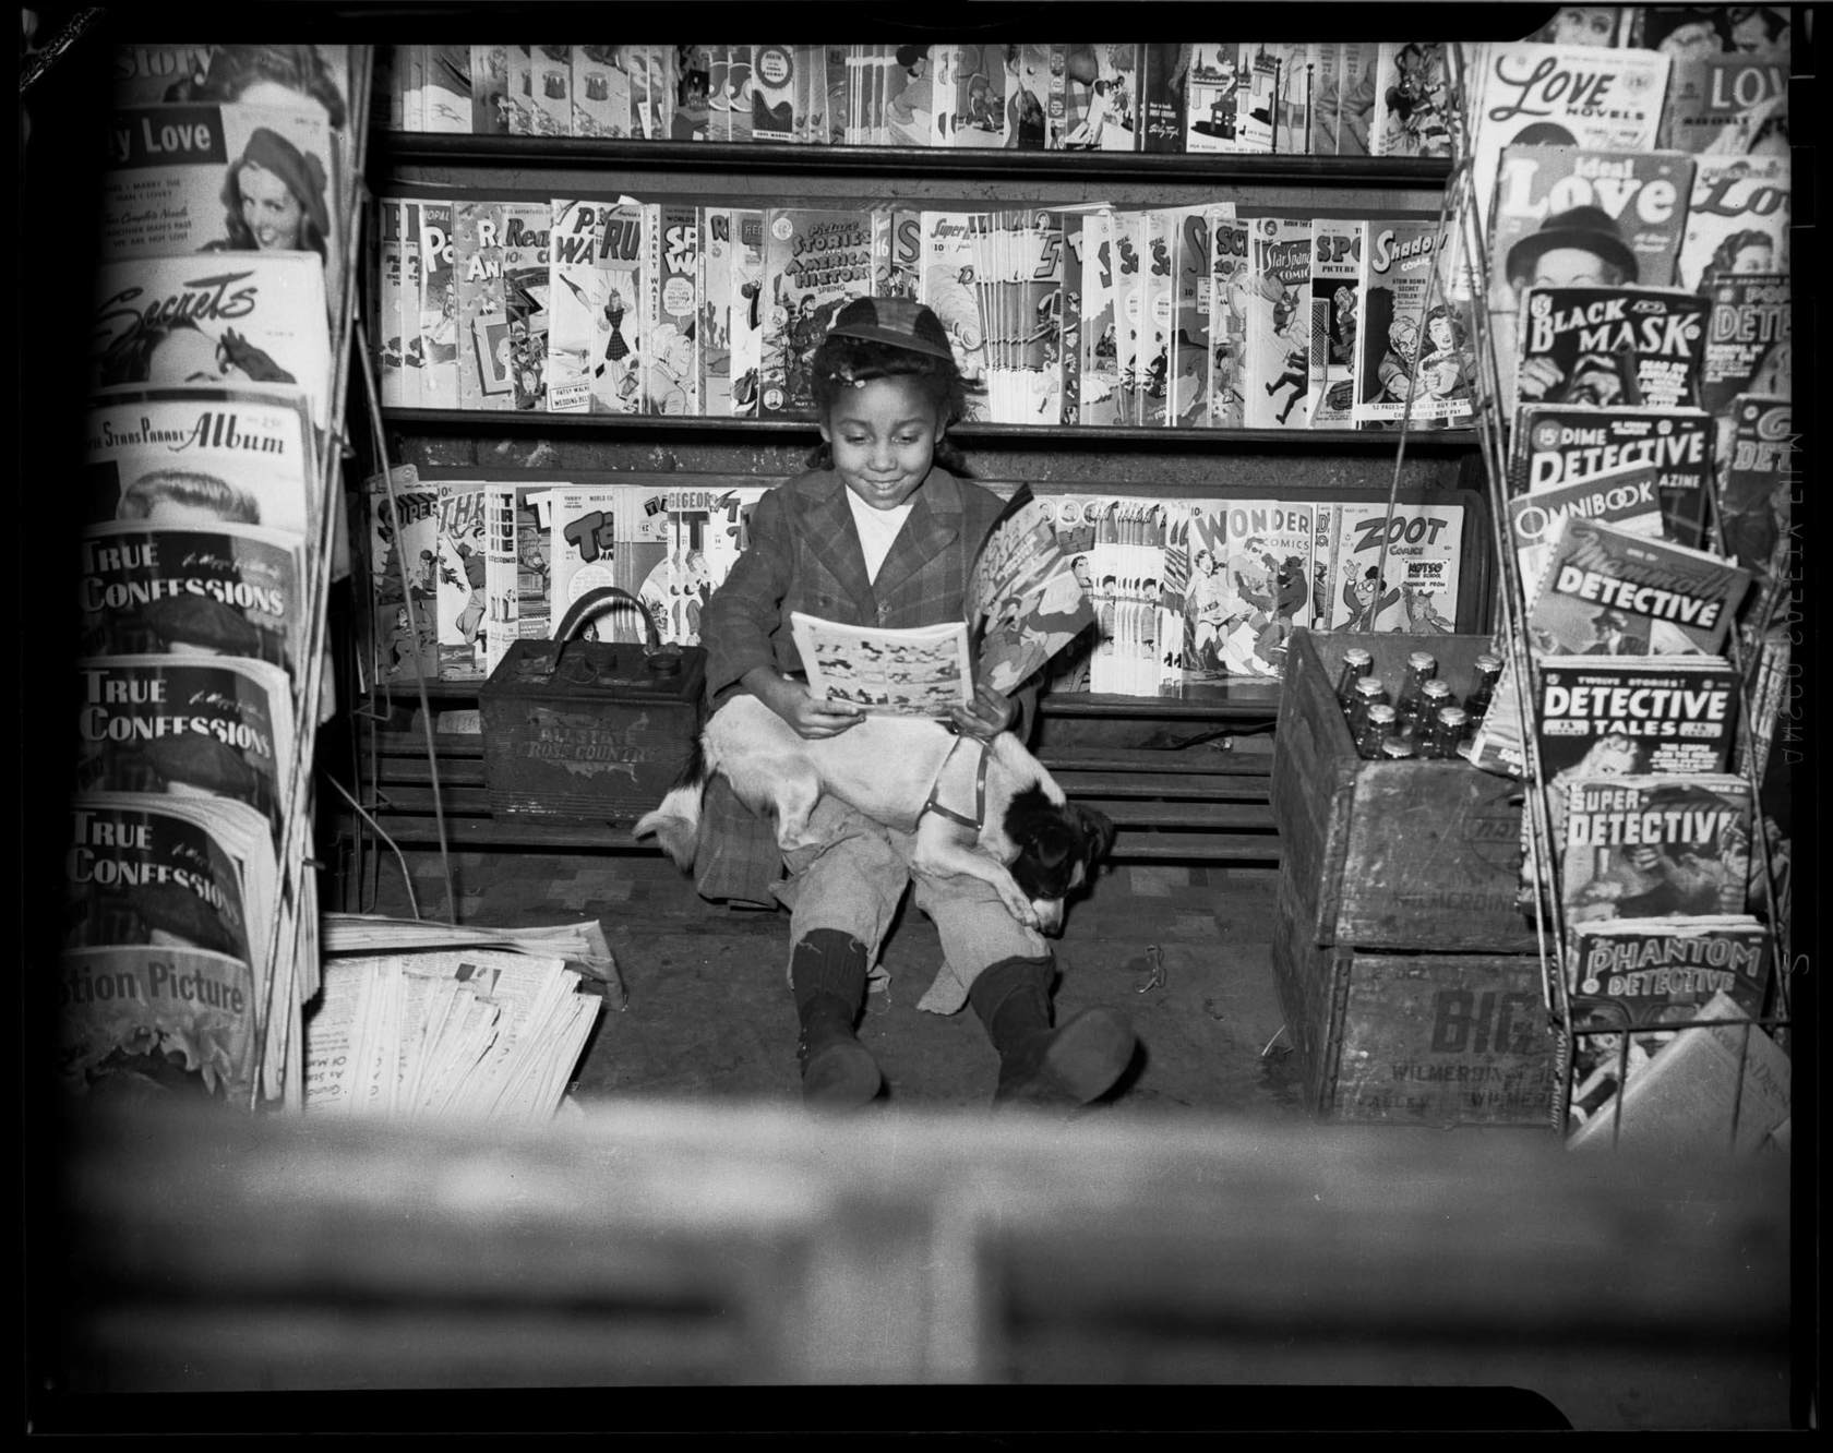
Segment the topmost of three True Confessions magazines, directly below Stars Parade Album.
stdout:
<svg viewBox="0 0 1833 1453">
<path fill-rule="evenodd" d="M 291 674 L 304 649 L 301 579 L 301 544 L 280 530 L 92 524 L 81 542 L 77 649 L 84 656 L 205 649 Z"/>
</svg>

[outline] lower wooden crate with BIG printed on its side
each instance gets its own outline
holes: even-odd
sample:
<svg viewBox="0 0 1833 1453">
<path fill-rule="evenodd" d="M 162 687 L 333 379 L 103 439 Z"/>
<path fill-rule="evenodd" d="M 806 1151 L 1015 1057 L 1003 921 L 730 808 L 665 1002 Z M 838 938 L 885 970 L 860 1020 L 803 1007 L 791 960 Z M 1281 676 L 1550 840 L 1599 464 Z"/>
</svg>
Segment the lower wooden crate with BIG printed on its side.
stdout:
<svg viewBox="0 0 1833 1453">
<path fill-rule="evenodd" d="M 1272 966 L 1312 1116 L 1553 1129 L 1554 1037 L 1536 956 L 1318 945 L 1312 923 L 1281 879 Z"/>
</svg>

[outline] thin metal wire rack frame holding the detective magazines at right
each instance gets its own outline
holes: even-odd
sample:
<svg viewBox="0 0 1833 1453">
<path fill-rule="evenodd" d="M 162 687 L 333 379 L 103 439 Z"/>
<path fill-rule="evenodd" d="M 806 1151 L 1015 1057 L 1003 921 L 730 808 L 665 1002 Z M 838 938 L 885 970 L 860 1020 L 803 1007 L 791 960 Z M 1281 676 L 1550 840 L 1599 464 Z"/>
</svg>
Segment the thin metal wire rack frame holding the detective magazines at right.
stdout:
<svg viewBox="0 0 1833 1453">
<path fill-rule="evenodd" d="M 1481 207 L 1476 192 L 1476 165 L 1474 165 L 1474 139 L 1476 130 L 1481 125 L 1472 114 L 1472 99 L 1477 92 L 1477 77 L 1470 73 L 1472 57 L 1465 46 L 1448 46 L 1448 57 L 1454 64 L 1455 93 L 1463 99 L 1463 104 L 1454 110 L 1452 115 L 1452 141 L 1454 141 L 1454 167 L 1452 180 L 1448 187 L 1452 209 L 1455 213 L 1457 224 L 1457 246 L 1461 251 L 1459 266 L 1463 268 L 1463 282 L 1468 288 L 1472 299 L 1470 317 L 1476 339 L 1476 359 L 1477 359 L 1477 429 L 1476 443 L 1483 458 L 1488 491 L 1490 491 L 1490 509 L 1487 519 L 1490 530 L 1494 531 L 1490 548 L 1496 561 L 1496 570 L 1499 577 L 1498 590 L 1498 643 L 1505 652 L 1507 667 L 1514 672 L 1518 682 L 1534 680 L 1534 661 L 1527 632 L 1527 603 L 1529 603 L 1529 583 L 1521 577 L 1516 550 L 1509 539 L 1509 469 L 1507 469 L 1507 438 L 1505 438 L 1505 394 L 1501 388 L 1501 357 L 1499 344 L 1490 328 L 1490 311 L 1487 300 L 1490 297 L 1490 249 L 1488 249 L 1488 218 L 1481 214 Z M 1443 269 L 1441 269 L 1443 277 Z M 1487 407 L 1485 407 L 1487 405 Z M 1714 493 L 1708 489 L 1708 520 L 1710 533 L 1708 541 L 1718 539 L 1718 509 Z M 1741 731 L 1751 729 L 1754 720 L 1751 704 L 1751 683 L 1752 672 L 1745 661 L 1745 652 L 1740 641 L 1740 632 L 1734 627 L 1727 639 L 1729 654 L 1732 665 L 1740 678 L 1740 696 L 1741 696 Z M 1615 1000 L 1582 997 L 1571 989 L 1567 984 L 1564 969 L 1564 953 L 1567 945 L 1567 922 L 1562 909 L 1560 892 L 1560 852 L 1558 845 L 1553 841 L 1553 801 L 1551 784 L 1542 771 L 1540 755 L 1540 720 L 1538 720 L 1538 691 L 1521 689 L 1512 693 L 1514 702 L 1520 709 L 1520 740 L 1523 748 L 1523 782 L 1525 782 L 1525 848 L 1527 865 L 1532 872 L 1540 890 L 1534 894 L 1534 923 L 1538 951 L 1542 962 L 1542 989 L 1547 1008 L 1549 1024 L 1558 1037 L 1558 1074 L 1562 1081 L 1560 1094 L 1554 1101 L 1554 1129 L 1564 1138 L 1569 1131 L 1569 1114 L 1573 1109 L 1573 1090 L 1575 1090 L 1575 1044 L 1582 1039 L 1615 1035 L 1617 1037 L 1617 1085 L 1624 1085 L 1630 1070 L 1631 1054 L 1631 1030 L 1652 1030 L 1655 1026 L 1633 1024 Z M 1756 830 L 1752 837 L 1762 843 L 1763 852 L 1763 881 L 1767 890 L 1767 927 L 1771 931 L 1771 984 L 1776 1010 L 1762 1017 L 1738 1017 L 1738 1019 L 1686 1019 L 1686 1021 L 1664 1021 L 1659 1024 L 1663 1033 L 1674 1030 L 1725 1030 L 1727 1026 L 1741 1030 L 1736 1039 L 1740 1041 L 1734 1050 L 1736 1055 L 1736 1090 L 1732 1092 L 1730 1109 L 1730 1132 L 1732 1142 L 1738 1143 L 1738 1114 L 1741 1107 L 1741 1096 L 1745 1087 L 1745 1065 L 1751 1052 L 1751 1035 L 1762 1030 L 1787 1030 L 1789 1019 L 1789 971 L 1793 967 L 1793 955 L 1789 953 L 1789 925 L 1780 920 L 1776 911 L 1774 896 L 1774 876 L 1769 863 L 1769 843 L 1767 834 L 1762 830 L 1762 808 L 1760 808 L 1760 782 L 1756 777 L 1756 753 L 1745 753 L 1745 770 L 1751 799 L 1756 810 Z M 1602 1021 L 1602 1022 L 1600 1022 Z M 1620 1131 L 1622 1116 L 1622 1096 L 1617 1094 L 1611 1101 L 1611 1143 L 1615 1145 L 1617 1134 Z"/>
</svg>

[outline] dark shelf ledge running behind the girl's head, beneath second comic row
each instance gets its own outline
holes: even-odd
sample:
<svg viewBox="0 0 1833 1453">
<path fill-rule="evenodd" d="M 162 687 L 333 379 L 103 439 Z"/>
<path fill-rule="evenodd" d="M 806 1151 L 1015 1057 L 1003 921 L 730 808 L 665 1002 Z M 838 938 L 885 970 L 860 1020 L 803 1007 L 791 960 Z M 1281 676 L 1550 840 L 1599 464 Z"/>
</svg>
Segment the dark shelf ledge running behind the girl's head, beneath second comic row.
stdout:
<svg viewBox="0 0 1833 1453">
<path fill-rule="evenodd" d="M 807 438 L 814 420 L 722 420 L 669 414 L 543 414 L 532 409 L 400 409 L 381 410 L 383 421 L 407 432 L 464 432 L 488 436 L 543 436 L 601 432 L 629 438 L 667 438 L 708 443 L 719 438 L 753 442 Z M 1298 454 L 1393 454 L 1399 431 L 1389 429 L 1146 429 L 1080 423 L 957 423 L 949 438 L 975 449 L 1037 449 L 1076 443 L 1122 445 L 1129 451 L 1235 449 Z M 1406 436 L 1408 451 L 1433 454 L 1476 449 L 1470 429 L 1421 429 Z"/>
</svg>

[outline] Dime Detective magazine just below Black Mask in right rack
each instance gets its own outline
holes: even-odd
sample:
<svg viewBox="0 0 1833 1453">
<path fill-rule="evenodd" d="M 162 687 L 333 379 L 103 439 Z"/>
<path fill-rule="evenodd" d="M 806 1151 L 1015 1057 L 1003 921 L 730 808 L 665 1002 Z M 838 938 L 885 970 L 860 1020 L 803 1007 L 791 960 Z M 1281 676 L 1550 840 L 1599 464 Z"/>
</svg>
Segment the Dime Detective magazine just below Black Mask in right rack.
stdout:
<svg viewBox="0 0 1833 1453">
<path fill-rule="evenodd" d="M 1705 539 L 1712 484 L 1712 423 L 1697 409 L 1567 409 L 1529 405 L 1510 440 L 1510 493 L 1578 491 L 1582 486 L 1644 484 L 1655 491 L 1661 533 L 1697 550 Z M 1582 493 L 1565 498 L 1582 500 Z M 1641 513 L 1641 498 L 1617 498 L 1619 509 Z M 1633 508 L 1631 508 L 1633 506 Z M 1593 500 L 1576 513 L 1600 515 Z M 1558 511 L 1573 513 L 1573 511 Z M 1553 513 L 1545 524 L 1553 522 Z M 1644 533 L 1644 531 L 1637 531 Z M 1538 581 L 1538 570 L 1525 579 Z"/>
</svg>

